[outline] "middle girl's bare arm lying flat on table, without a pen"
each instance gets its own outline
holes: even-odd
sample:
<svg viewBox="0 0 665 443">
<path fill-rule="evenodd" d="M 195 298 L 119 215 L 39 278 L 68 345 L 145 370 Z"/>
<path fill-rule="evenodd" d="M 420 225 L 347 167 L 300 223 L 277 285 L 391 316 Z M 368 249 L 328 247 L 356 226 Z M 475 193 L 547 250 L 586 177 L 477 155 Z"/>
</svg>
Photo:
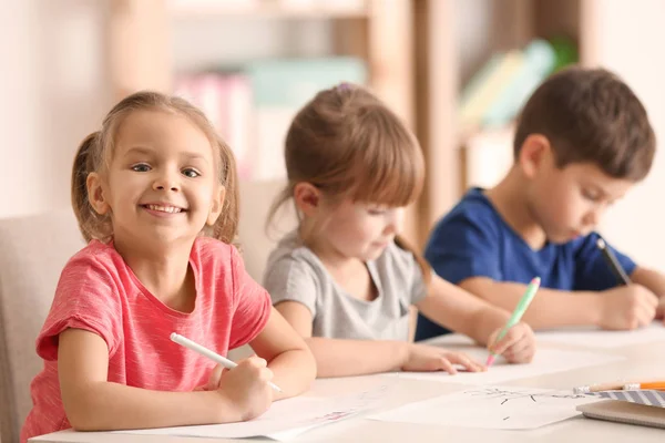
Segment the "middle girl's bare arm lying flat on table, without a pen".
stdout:
<svg viewBox="0 0 665 443">
<path fill-rule="evenodd" d="M 317 377 L 364 375 L 397 371 L 457 372 L 452 364 L 479 371 L 480 364 L 459 352 L 398 340 L 348 340 L 311 337 L 311 312 L 297 301 L 282 301 L 277 310 L 305 338 L 316 359 Z"/>
</svg>

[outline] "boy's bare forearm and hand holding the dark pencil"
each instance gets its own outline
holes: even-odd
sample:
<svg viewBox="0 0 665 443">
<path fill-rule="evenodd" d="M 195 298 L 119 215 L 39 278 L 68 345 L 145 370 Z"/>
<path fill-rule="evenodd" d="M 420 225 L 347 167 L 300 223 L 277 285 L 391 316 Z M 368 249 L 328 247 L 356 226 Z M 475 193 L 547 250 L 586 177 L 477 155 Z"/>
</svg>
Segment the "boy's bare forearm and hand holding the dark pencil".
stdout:
<svg viewBox="0 0 665 443">
<path fill-rule="evenodd" d="M 460 287 L 489 301 L 512 310 L 526 290 L 526 285 L 472 277 Z M 570 326 L 598 326 L 605 329 L 635 329 L 651 322 L 657 300 L 640 285 L 621 286 L 606 291 L 562 291 L 540 288 L 522 320 L 533 329 Z"/>
</svg>

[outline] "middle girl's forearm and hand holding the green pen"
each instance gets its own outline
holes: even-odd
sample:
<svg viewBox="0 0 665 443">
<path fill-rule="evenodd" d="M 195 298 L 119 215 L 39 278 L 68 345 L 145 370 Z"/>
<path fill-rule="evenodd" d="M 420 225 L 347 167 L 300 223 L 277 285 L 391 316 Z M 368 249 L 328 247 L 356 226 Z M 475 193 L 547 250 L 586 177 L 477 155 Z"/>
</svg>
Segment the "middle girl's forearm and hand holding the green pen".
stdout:
<svg viewBox="0 0 665 443">
<path fill-rule="evenodd" d="M 531 361 L 535 352 L 533 332 L 525 323 L 515 324 L 494 343 L 495 336 L 508 322 L 508 310 L 480 300 L 438 276 L 432 277 L 427 296 L 417 306 L 430 319 L 481 344 L 491 346 L 492 351 L 504 354 L 511 362 Z M 515 306 L 516 301 L 509 309 L 512 311 Z"/>
</svg>

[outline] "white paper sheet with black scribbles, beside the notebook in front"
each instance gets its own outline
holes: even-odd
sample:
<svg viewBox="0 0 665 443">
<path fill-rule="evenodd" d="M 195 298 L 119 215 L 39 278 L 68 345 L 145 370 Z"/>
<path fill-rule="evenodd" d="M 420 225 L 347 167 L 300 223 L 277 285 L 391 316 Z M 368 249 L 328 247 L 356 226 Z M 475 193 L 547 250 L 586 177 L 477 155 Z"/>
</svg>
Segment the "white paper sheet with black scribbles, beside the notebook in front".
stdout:
<svg viewBox="0 0 665 443">
<path fill-rule="evenodd" d="M 597 401 L 572 392 L 520 387 L 477 387 L 369 415 L 370 420 L 504 430 L 535 429 L 579 415 Z"/>
</svg>

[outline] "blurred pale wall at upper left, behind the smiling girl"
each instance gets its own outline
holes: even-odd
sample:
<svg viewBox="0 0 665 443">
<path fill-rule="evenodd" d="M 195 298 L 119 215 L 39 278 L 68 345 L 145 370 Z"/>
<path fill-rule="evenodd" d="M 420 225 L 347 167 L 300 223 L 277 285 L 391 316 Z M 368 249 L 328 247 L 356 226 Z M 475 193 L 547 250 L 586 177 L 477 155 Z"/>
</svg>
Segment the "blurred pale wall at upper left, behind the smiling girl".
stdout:
<svg viewBox="0 0 665 443">
<path fill-rule="evenodd" d="M 0 217 L 69 205 L 79 142 L 109 106 L 99 0 L 2 0 Z"/>
</svg>

